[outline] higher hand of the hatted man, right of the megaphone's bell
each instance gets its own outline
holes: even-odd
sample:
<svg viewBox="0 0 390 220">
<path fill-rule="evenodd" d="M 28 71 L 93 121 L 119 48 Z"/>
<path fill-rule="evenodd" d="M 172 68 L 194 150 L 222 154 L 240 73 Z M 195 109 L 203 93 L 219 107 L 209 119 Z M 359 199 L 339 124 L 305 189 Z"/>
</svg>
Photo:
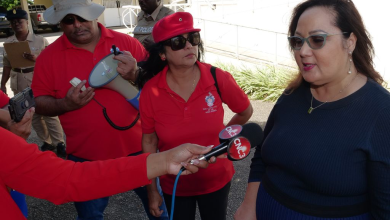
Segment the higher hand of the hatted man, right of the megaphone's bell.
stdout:
<svg viewBox="0 0 390 220">
<path fill-rule="evenodd" d="M 131 55 L 129 51 L 122 51 L 123 54 L 114 56 L 115 60 L 118 60 L 118 67 L 116 71 L 126 80 L 132 82 L 137 78 L 137 60 Z"/>
</svg>

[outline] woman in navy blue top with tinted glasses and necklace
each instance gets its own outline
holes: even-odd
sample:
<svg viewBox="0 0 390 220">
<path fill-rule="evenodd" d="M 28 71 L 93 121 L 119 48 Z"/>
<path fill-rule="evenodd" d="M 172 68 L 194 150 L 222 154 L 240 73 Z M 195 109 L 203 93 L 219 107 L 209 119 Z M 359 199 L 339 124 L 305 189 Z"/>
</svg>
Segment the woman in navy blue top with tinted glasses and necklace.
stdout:
<svg viewBox="0 0 390 220">
<path fill-rule="evenodd" d="M 235 219 L 390 219 L 390 94 L 358 11 L 305 1 L 289 36 L 299 74 L 269 116 Z"/>
</svg>

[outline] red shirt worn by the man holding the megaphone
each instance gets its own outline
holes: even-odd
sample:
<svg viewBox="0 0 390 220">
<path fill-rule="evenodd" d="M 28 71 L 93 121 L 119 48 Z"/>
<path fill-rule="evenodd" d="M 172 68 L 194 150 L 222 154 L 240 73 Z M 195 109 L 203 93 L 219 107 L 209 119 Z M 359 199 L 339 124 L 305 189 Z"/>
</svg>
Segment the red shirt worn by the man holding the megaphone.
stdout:
<svg viewBox="0 0 390 220">
<path fill-rule="evenodd" d="M 138 40 L 101 24 L 99 28 L 101 37 L 93 53 L 75 47 L 62 35 L 40 54 L 31 85 L 36 97 L 64 98 L 72 86 L 69 81 L 73 77 L 88 81 L 94 66 L 110 53 L 113 44 L 121 51 L 130 51 L 137 61 L 145 59 L 147 53 Z M 118 126 L 127 126 L 137 117 L 138 111 L 114 90 L 98 88 L 94 98 L 106 107 L 109 118 Z M 87 160 L 104 160 L 141 151 L 141 122 L 125 131 L 116 130 L 102 111 L 91 100 L 81 109 L 59 116 L 66 134 L 67 153 Z"/>
</svg>

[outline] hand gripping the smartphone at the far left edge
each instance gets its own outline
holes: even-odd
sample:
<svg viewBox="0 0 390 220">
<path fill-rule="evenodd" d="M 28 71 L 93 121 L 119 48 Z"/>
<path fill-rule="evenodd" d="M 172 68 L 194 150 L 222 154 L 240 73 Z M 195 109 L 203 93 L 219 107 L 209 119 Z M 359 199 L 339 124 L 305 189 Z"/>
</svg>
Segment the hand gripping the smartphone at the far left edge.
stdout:
<svg viewBox="0 0 390 220">
<path fill-rule="evenodd" d="M 26 111 L 20 122 L 15 122 L 14 120 L 9 121 L 7 123 L 8 130 L 18 135 L 19 137 L 22 137 L 23 139 L 27 139 L 31 133 L 31 123 L 34 113 L 35 108 L 32 107 Z"/>
</svg>

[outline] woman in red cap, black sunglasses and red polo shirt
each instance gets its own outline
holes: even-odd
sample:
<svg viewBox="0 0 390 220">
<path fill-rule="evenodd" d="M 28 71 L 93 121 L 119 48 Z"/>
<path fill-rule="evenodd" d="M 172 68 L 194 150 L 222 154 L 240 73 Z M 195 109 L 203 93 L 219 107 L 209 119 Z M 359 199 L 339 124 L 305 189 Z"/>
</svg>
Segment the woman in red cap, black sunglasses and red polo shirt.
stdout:
<svg viewBox="0 0 390 220">
<path fill-rule="evenodd" d="M 248 97 L 231 74 L 216 69 L 214 80 L 212 66 L 200 62 L 203 46 L 199 31 L 187 12 L 167 16 L 153 28 L 156 44 L 149 48 L 149 58 L 137 80 L 142 88 L 144 152 L 166 151 L 186 142 L 218 145 L 218 133 L 225 127 L 222 101 L 236 113 L 228 125 L 244 124 L 252 115 Z M 226 219 L 233 174 L 232 162 L 219 159 L 205 172 L 181 177 L 174 219 L 195 219 L 196 204 L 203 220 Z M 160 177 L 169 211 L 174 181 L 174 175 Z M 147 189 L 150 211 L 159 216 L 162 198 L 155 182 Z"/>
</svg>

